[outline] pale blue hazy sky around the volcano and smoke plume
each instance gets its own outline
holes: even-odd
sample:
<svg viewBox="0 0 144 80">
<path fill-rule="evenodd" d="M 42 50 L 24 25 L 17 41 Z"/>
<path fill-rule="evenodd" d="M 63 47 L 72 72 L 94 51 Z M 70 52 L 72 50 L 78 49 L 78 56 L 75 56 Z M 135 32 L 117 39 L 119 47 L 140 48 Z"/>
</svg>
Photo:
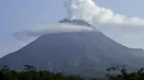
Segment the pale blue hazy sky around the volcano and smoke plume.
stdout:
<svg viewBox="0 0 144 80">
<path fill-rule="evenodd" d="M 66 18 L 64 0 L 0 0 L 0 56 L 19 49 L 29 42 L 13 37 L 13 33 L 56 23 Z M 115 13 L 144 19 L 143 0 L 94 0 L 97 5 Z M 116 25 L 115 25 L 116 26 Z M 138 26 L 136 27 L 140 28 Z M 104 34 L 128 47 L 144 48 L 143 32 L 127 33 L 111 25 L 99 27 Z M 135 30 L 135 28 L 134 28 Z M 141 28 L 140 28 L 141 30 Z M 125 39 L 123 39 L 125 38 Z"/>
</svg>

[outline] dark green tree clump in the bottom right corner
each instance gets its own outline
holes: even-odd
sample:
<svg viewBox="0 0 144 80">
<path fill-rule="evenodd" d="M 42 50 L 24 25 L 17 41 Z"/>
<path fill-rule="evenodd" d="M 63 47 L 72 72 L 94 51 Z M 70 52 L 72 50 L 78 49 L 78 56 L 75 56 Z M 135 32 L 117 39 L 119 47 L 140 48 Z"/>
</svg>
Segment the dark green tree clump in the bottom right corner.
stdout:
<svg viewBox="0 0 144 80">
<path fill-rule="evenodd" d="M 121 75 L 110 75 L 107 73 L 106 77 L 109 80 L 144 80 L 144 68 L 137 70 L 136 72 L 127 72 L 125 66 L 124 67 L 111 67 L 107 71 L 115 71 L 119 70 Z"/>
</svg>

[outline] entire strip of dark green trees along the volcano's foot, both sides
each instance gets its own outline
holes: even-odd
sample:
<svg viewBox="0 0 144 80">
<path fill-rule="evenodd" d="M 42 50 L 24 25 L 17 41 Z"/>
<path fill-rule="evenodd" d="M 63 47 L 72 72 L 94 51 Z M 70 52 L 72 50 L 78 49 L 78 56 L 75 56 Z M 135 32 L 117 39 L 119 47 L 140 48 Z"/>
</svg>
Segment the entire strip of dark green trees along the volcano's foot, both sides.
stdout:
<svg viewBox="0 0 144 80">
<path fill-rule="evenodd" d="M 47 70 L 37 70 L 33 66 L 25 65 L 23 71 L 10 70 L 7 66 L 0 68 L 0 80 L 85 80 L 80 76 L 64 76 L 61 72 L 52 73 Z M 120 71 L 120 75 L 111 75 L 111 71 Z M 127 73 L 125 67 L 111 67 L 102 80 L 144 80 L 144 68 L 136 72 Z M 91 79 L 100 80 L 100 79 Z"/>
</svg>

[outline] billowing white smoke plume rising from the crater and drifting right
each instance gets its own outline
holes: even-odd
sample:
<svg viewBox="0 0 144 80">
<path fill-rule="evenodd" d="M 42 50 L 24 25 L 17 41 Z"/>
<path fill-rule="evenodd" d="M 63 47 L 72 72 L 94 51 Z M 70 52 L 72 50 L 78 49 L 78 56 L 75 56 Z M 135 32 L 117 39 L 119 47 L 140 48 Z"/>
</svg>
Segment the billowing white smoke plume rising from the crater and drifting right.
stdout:
<svg viewBox="0 0 144 80">
<path fill-rule="evenodd" d="M 93 25 L 96 23 L 119 25 L 144 25 L 140 18 L 128 18 L 124 14 L 116 14 L 111 9 L 102 8 L 92 0 L 66 0 L 64 5 L 69 19 L 82 19 Z"/>
</svg>

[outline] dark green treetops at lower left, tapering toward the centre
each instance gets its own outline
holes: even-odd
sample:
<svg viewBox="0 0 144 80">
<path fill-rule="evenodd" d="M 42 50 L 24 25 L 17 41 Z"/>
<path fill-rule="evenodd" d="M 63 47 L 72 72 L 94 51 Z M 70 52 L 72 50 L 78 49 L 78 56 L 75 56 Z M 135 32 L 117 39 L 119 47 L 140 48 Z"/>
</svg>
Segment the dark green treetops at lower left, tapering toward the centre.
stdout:
<svg viewBox="0 0 144 80">
<path fill-rule="evenodd" d="M 78 76 L 64 76 L 47 70 L 37 70 L 33 66 L 24 65 L 24 71 L 10 70 L 7 66 L 0 68 L 0 80 L 83 80 Z"/>
</svg>

